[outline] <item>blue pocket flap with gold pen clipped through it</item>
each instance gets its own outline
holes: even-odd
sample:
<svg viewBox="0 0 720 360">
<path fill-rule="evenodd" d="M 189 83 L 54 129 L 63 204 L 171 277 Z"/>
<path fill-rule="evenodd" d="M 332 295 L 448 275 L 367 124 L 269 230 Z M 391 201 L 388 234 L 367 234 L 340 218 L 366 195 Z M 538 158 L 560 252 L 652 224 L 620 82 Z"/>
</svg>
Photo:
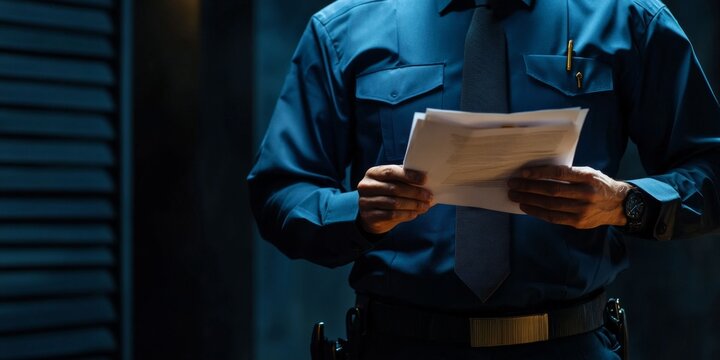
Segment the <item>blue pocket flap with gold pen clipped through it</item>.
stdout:
<svg viewBox="0 0 720 360">
<path fill-rule="evenodd" d="M 595 59 L 574 57 L 572 71 L 566 71 L 567 58 L 560 55 L 525 55 L 525 71 L 536 80 L 567 96 L 613 90 L 612 67 Z M 576 74 L 582 73 L 582 87 Z"/>
</svg>

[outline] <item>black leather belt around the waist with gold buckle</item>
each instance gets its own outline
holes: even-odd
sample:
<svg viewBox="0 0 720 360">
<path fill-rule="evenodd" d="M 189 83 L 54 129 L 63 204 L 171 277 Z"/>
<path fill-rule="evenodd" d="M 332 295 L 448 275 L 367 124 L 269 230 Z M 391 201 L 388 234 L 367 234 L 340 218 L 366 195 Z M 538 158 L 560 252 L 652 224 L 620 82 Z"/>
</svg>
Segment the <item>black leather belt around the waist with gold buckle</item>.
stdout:
<svg viewBox="0 0 720 360">
<path fill-rule="evenodd" d="M 369 331 L 472 347 L 519 345 L 578 335 L 603 326 L 604 292 L 547 312 L 519 316 L 463 316 L 367 301 Z"/>
</svg>

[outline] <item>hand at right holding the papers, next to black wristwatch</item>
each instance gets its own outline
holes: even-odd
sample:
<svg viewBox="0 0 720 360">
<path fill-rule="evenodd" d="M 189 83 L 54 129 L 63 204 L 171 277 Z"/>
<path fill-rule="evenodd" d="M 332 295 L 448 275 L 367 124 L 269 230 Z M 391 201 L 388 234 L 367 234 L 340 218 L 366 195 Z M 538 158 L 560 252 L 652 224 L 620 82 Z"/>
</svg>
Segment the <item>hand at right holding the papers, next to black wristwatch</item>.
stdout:
<svg viewBox="0 0 720 360">
<path fill-rule="evenodd" d="M 528 167 L 508 186 L 522 211 L 554 224 L 591 229 L 627 222 L 623 201 L 632 185 L 589 167 Z"/>
</svg>

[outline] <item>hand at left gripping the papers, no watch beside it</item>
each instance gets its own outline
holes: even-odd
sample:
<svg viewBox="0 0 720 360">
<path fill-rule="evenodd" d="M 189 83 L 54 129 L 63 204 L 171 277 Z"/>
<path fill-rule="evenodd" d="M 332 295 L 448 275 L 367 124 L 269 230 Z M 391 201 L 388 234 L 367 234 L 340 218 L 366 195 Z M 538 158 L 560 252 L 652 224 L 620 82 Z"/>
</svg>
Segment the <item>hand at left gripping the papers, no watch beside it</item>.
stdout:
<svg viewBox="0 0 720 360">
<path fill-rule="evenodd" d="M 363 230 L 382 234 L 410 221 L 432 206 L 432 193 L 421 186 L 425 174 L 398 165 L 370 168 L 358 184 Z"/>
</svg>

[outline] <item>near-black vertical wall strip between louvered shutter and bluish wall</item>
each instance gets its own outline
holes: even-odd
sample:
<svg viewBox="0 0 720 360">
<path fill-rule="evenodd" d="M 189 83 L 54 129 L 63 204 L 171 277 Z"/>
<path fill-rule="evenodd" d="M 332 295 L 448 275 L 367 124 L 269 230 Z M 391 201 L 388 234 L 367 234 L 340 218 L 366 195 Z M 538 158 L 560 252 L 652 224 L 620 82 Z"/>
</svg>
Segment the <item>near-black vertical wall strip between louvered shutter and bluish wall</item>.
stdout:
<svg viewBox="0 0 720 360">
<path fill-rule="evenodd" d="M 252 2 L 135 17 L 136 358 L 250 359 Z"/>
</svg>

